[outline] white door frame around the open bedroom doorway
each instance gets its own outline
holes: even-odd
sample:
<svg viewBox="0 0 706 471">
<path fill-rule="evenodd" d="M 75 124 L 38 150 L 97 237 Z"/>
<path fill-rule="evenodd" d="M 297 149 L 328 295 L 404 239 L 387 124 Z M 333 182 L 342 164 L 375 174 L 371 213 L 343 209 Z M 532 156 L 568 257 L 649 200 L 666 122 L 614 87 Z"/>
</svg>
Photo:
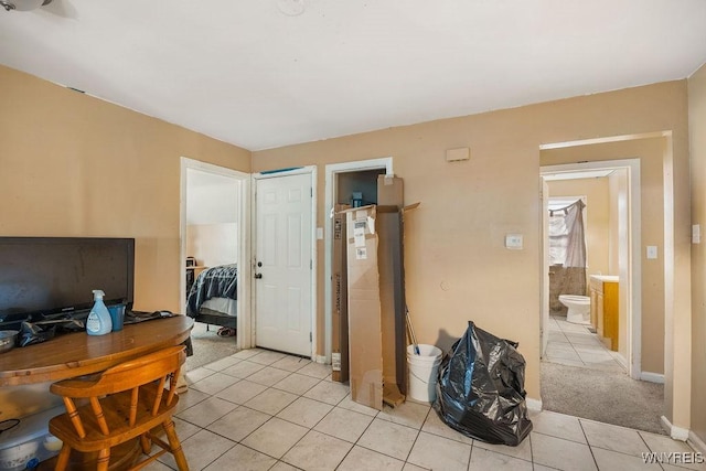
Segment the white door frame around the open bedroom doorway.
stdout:
<svg viewBox="0 0 706 471">
<path fill-rule="evenodd" d="M 238 184 L 239 204 L 238 213 L 238 282 L 237 282 L 237 304 L 238 314 L 236 320 L 237 335 L 236 346 L 238 349 L 248 349 L 252 346 L 249 334 L 250 323 L 250 297 L 246 296 L 250 292 L 252 274 L 250 274 L 250 174 L 225 167 L 215 165 L 213 163 L 202 162 L 200 160 L 181 158 L 181 179 L 180 179 L 180 225 L 179 225 L 179 244 L 180 244 L 180 263 L 181 267 L 185 267 L 186 260 L 186 201 L 188 201 L 188 171 L 199 170 L 205 173 L 212 173 L 220 176 L 233 179 Z M 186 270 L 182 269 L 180 275 L 180 306 L 183 313 L 186 313 Z"/>
</svg>

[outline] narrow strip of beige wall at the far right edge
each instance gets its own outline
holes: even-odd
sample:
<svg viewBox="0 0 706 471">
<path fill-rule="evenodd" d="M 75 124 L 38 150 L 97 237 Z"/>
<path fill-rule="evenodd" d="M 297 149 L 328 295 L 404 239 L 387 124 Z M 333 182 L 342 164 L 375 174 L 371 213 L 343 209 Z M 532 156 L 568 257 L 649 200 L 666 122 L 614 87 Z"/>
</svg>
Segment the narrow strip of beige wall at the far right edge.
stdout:
<svg viewBox="0 0 706 471">
<path fill-rule="evenodd" d="M 702 226 L 702 243 L 692 245 L 692 430 L 706 441 L 706 66 L 688 79 L 692 147 L 692 222 Z"/>
</svg>

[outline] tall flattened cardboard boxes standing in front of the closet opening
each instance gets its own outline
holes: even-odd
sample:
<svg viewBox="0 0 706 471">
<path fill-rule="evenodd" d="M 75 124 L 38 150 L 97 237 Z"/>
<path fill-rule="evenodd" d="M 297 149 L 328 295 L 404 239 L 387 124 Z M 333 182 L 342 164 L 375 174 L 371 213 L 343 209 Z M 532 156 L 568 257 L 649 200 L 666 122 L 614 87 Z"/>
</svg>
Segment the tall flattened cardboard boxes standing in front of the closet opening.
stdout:
<svg viewBox="0 0 706 471">
<path fill-rule="evenodd" d="M 353 400 L 382 409 L 404 400 L 407 379 L 403 181 L 377 180 L 377 205 L 334 217 L 333 375 Z"/>
</svg>

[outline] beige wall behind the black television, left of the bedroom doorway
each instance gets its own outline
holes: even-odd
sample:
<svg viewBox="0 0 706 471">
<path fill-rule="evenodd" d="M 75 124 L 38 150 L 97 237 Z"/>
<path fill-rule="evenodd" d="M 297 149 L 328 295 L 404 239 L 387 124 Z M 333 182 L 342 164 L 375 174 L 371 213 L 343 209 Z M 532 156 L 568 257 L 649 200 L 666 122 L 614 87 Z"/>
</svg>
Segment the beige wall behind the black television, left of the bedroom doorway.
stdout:
<svg viewBox="0 0 706 471">
<path fill-rule="evenodd" d="M 0 234 L 135 237 L 136 309 L 179 311 L 181 157 L 249 172 L 250 152 L 2 66 L 0 84 Z"/>
</svg>

